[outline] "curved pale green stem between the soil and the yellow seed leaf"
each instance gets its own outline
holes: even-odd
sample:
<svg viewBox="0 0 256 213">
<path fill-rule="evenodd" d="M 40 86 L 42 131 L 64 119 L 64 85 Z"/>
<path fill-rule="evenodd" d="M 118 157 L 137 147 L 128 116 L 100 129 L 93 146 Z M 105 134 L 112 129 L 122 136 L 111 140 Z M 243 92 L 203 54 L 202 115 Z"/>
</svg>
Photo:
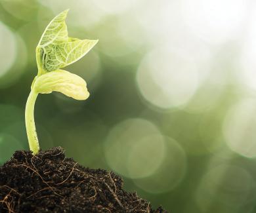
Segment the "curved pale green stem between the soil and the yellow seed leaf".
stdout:
<svg viewBox="0 0 256 213">
<path fill-rule="evenodd" d="M 28 96 L 25 109 L 25 122 L 28 135 L 28 144 L 30 145 L 30 150 L 33 152 L 34 155 L 39 151 L 39 142 L 37 138 L 37 132 L 35 130 L 35 121 L 33 117 L 33 110 L 37 96 L 38 93 L 32 88 L 30 95 Z"/>
</svg>

